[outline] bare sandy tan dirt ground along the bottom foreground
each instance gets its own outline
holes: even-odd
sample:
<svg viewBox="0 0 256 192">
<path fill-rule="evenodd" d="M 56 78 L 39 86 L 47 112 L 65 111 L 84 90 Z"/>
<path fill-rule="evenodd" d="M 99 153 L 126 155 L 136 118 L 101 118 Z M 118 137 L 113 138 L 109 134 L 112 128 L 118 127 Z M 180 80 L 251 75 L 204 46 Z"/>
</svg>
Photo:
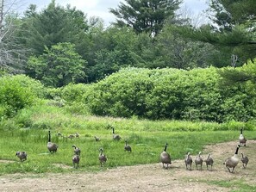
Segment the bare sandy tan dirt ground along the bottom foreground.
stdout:
<svg viewBox="0 0 256 192">
<path fill-rule="evenodd" d="M 237 185 L 221 187 L 220 183 L 242 183 L 256 186 L 255 161 L 256 140 L 247 141 L 240 147 L 250 159 L 247 169 L 238 164 L 234 173 L 229 173 L 224 160 L 234 155 L 237 141 L 206 146 L 203 158 L 211 152 L 215 160 L 212 171 L 184 169 L 184 160 L 173 161 L 168 170 L 162 164 L 145 164 L 117 167 L 97 173 L 70 174 L 13 174 L 0 177 L 1 191 L 231 191 Z M 240 153 L 239 152 L 239 153 Z M 192 156 L 195 159 L 195 156 Z M 0 162 L 1 163 L 1 162 Z M 3 163 L 3 162 L 2 162 Z M 224 185 L 225 186 L 225 185 Z M 252 191 L 252 190 L 251 190 Z M 254 190 L 256 191 L 256 189 Z"/>
</svg>

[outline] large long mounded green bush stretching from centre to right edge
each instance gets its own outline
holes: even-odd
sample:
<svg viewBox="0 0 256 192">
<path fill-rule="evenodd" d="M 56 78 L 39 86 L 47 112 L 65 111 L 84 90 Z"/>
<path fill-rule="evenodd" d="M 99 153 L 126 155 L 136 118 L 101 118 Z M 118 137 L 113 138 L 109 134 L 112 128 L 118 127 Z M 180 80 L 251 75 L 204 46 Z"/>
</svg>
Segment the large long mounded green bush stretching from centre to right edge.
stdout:
<svg viewBox="0 0 256 192">
<path fill-rule="evenodd" d="M 215 67 L 177 69 L 127 68 L 106 77 L 84 93 L 94 115 L 153 120 L 250 121 L 256 114 L 252 82 L 220 86 Z M 254 96 L 254 98 L 252 97 Z"/>
</svg>

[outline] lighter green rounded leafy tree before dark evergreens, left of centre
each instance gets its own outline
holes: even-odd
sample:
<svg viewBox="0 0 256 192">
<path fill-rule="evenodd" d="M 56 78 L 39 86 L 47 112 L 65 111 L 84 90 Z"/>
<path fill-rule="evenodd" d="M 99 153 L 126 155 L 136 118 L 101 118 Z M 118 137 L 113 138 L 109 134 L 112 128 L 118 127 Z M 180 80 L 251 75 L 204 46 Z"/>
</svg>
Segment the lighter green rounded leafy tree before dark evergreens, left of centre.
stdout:
<svg viewBox="0 0 256 192">
<path fill-rule="evenodd" d="M 28 59 L 28 76 L 40 80 L 43 84 L 62 87 L 69 83 L 78 83 L 85 77 L 86 61 L 81 59 L 71 43 L 58 43 L 50 49 L 45 47 L 41 56 Z"/>
</svg>

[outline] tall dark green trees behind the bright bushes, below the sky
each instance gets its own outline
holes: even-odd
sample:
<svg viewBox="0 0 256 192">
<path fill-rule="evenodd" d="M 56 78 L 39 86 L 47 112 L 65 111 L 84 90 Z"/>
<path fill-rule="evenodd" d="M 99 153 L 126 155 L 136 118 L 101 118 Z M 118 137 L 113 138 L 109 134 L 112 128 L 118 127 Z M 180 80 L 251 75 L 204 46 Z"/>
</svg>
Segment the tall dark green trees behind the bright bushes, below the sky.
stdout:
<svg viewBox="0 0 256 192">
<path fill-rule="evenodd" d="M 31 4 L 19 17 L 0 10 L 1 71 L 62 87 L 97 82 L 128 66 L 190 70 L 240 66 L 255 57 L 254 3 L 210 1 L 211 23 L 201 26 L 177 14 L 180 3 L 126 0 L 110 9 L 116 22 L 108 28 L 54 0 L 41 10 Z M 242 17 L 233 9 L 241 4 Z"/>
</svg>

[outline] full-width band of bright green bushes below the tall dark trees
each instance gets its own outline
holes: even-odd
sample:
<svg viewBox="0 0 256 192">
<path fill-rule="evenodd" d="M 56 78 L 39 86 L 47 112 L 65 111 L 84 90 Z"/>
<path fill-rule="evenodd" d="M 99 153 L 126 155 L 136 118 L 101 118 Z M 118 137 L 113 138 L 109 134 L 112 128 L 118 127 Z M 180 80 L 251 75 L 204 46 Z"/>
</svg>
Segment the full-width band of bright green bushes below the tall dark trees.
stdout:
<svg viewBox="0 0 256 192">
<path fill-rule="evenodd" d="M 126 68 L 96 84 L 47 88 L 26 76 L 0 77 L 0 115 L 13 117 L 22 108 L 50 101 L 72 114 L 138 117 L 151 120 L 253 121 L 255 78 L 227 84 L 225 71 L 255 70 L 252 62 L 238 68 Z"/>
</svg>

